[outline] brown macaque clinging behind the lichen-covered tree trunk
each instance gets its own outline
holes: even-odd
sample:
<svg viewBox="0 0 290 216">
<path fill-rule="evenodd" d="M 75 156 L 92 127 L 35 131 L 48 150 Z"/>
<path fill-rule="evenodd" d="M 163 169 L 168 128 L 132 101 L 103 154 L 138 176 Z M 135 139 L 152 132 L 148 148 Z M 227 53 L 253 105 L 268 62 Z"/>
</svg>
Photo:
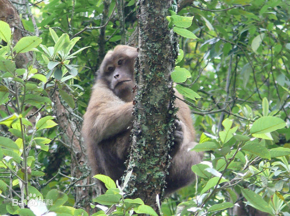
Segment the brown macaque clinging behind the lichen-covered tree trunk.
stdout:
<svg viewBox="0 0 290 216">
<path fill-rule="evenodd" d="M 132 88 L 135 86 L 134 63 L 137 55 L 137 49 L 127 45 L 117 45 L 106 54 L 84 115 L 82 134 L 92 174 L 104 174 L 114 181 L 126 170 L 124 162 L 131 145 L 135 96 Z M 176 95 L 182 98 L 178 92 Z M 191 166 L 202 159 L 202 154 L 188 151 L 195 146 L 190 109 L 179 99 L 176 106 L 179 108 L 179 120 L 174 131 L 175 146 L 166 177 L 166 194 L 192 182 L 195 174 Z"/>
</svg>

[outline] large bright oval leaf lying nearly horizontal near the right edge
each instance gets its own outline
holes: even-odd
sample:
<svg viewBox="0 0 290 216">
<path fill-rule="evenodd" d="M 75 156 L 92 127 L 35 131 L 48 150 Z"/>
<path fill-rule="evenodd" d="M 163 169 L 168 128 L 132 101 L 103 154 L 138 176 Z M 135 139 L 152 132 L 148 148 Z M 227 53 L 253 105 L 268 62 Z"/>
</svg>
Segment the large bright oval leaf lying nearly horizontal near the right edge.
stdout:
<svg viewBox="0 0 290 216">
<path fill-rule="evenodd" d="M 250 132 L 252 134 L 265 134 L 284 128 L 285 126 L 286 123 L 281 118 L 263 116 L 253 123 Z"/>
</svg>

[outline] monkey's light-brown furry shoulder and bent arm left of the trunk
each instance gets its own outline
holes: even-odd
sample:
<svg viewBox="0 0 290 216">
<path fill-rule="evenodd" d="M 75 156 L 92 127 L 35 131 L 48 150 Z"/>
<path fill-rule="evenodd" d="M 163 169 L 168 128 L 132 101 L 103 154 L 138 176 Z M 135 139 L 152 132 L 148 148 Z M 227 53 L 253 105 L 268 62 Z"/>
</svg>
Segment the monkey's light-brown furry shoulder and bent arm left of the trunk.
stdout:
<svg viewBox="0 0 290 216">
<path fill-rule="evenodd" d="M 102 83 L 94 85 L 84 115 L 83 132 L 97 142 L 126 130 L 132 123 L 133 103 L 120 100 Z"/>
</svg>

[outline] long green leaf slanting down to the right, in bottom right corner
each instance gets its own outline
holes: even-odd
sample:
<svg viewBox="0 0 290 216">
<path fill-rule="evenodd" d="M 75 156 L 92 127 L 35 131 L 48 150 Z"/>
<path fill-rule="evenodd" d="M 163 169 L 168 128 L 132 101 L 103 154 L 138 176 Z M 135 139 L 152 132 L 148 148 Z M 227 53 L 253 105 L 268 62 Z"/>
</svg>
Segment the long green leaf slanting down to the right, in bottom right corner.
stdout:
<svg viewBox="0 0 290 216">
<path fill-rule="evenodd" d="M 272 210 L 270 205 L 265 202 L 260 195 L 258 195 L 257 193 L 255 193 L 252 190 L 249 189 L 244 189 L 241 188 L 241 193 L 244 195 L 244 197 L 249 201 L 250 205 L 253 206 L 254 208 L 263 211 L 263 212 L 267 212 L 272 214 Z"/>
</svg>

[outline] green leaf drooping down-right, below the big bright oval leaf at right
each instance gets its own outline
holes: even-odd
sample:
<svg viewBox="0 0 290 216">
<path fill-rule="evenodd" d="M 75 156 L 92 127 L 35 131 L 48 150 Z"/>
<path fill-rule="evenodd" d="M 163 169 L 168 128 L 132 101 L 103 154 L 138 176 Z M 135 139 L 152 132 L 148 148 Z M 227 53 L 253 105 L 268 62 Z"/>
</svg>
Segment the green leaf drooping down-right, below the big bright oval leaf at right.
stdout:
<svg viewBox="0 0 290 216">
<path fill-rule="evenodd" d="M 268 149 L 264 147 L 262 143 L 258 142 L 258 140 L 246 142 L 246 145 L 243 146 L 241 150 L 248 151 L 260 158 L 271 159 Z"/>
</svg>

